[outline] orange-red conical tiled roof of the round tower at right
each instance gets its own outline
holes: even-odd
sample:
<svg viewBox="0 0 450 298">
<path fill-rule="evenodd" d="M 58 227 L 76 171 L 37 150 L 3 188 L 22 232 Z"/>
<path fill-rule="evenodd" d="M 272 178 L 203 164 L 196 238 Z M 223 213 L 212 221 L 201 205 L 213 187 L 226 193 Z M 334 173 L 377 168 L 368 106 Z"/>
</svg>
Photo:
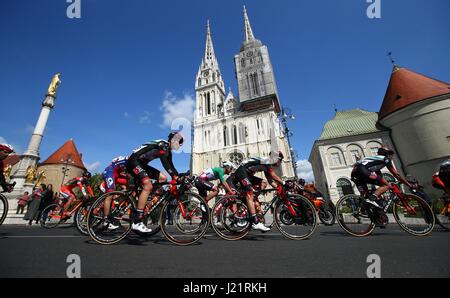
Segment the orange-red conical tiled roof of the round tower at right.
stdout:
<svg viewBox="0 0 450 298">
<path fill-rule="evenodd" d="M 406 68 L 394 67 L 380 109 L 380 119 L 416 102 L 450 94 L 450 84 Z"/>
</svg>

